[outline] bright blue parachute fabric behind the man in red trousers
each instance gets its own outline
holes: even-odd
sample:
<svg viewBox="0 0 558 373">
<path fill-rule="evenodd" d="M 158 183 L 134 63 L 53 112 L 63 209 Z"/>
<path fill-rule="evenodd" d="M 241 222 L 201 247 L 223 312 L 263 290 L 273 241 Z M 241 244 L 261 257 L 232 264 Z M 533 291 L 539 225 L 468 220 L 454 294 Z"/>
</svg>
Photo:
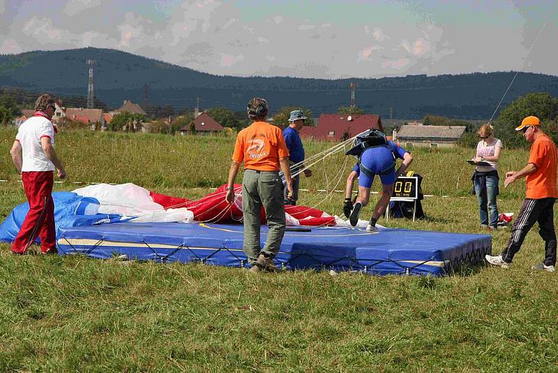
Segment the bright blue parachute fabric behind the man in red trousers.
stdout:
<svg viewBox="0 0 558 373">
<path fill-rule="evenodd" d="M 96 210 L 93 205 L 99 205 L 99 202 L 95 198 L 80 196 L 69 191 L 56 191 L 52 193 L 52 200 L 54 200 L 56 237 L 59 237 L 61 228 L 90 226 L 98 224 L 100 221 L 112 222 L 120 220 L 120 215 L 117 214 L 84 215 L 88 211 Z M 17 205 L 12 210 L 10 215 L 0 224 L 1 242 L 12 242 L 15 239 L 28 211 L 29 203 L 27 202 Z"/>
</svg>

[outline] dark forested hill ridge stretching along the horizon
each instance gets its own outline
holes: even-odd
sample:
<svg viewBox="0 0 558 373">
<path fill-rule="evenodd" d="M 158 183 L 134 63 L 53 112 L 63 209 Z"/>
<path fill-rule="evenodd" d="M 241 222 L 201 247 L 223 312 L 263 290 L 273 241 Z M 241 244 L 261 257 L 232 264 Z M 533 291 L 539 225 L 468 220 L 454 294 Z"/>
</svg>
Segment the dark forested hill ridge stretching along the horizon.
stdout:
<svg viewBox="0 0 558 373">
<path fill-rule="evenodd" d="M 87 94 L 87 59 L 94 59 L 96 97 L 113 108 L 123 100 L 174 108 L 224 106 L 243 110 L 250 97 L 269 100 L 271 111 L 301 105 L 318 115 L 349 104 L 349 82 L 356 82 L 356 104 L 367 113 L 389 117 L 426 114 L 488 118 L 510 84 L 513 72 L 462 75 L 408 75 L 380 79 L 238 78 L 200 73 L 119 50 L 82 48 L 0 56 L 0 86 L 59 96 Z M 520 73 L 503 106 L 529 92 L 558 96 L 558 77 Z"/>
</svg>

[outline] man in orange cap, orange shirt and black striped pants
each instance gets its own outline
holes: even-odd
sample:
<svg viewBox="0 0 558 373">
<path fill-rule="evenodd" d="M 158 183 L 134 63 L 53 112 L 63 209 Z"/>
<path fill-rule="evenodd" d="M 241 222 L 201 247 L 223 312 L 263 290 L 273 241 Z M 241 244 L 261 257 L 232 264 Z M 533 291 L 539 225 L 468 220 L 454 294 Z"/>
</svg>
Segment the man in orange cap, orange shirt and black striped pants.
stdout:
<svg viewBox="0 0 558 373">
<path fill-rule="evenodd" d="M 486 260 L 493 265 L 509 268 L 525 236 L 535 222 L 538 222 L 538 234 L 545 241 L 545 259 L 543 263 L 534 265 L 532 269 L 554 272 L 556 265 L 554 203 L 558 198 L 556 186 L 558 152 L 555 143 L 541 129 L 541 121 L 537 117 L 526 117 L 515 131 L 522 131 L 525 139 L 533 142 L 533 145 L 531 145 L 527 166 L 518 172 L 506 173 L 504 187 L 515 180 L 527 177 L 526 198 L 519 217 L 513 224 L 508 246 L 501 255 L 487 255 Z"/>
</svg>

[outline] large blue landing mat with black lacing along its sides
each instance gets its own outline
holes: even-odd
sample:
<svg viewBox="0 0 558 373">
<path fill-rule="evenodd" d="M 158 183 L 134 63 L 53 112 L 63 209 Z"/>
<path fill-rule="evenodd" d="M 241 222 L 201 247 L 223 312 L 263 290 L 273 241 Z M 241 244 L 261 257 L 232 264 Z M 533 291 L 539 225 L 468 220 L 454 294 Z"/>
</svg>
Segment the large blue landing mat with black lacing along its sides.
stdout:
<svg viewBox="0 0 558 373">
<path fill-rule="evenodd" d="M 201 261 L 247 267 L 241 225 L 115 223 L 61 228 L 61 255 L 86 254 L 160 262 Z M 267 227 L 262 226 L 262 246 Z M 320 227 L 287 231 L 275 261 L 287 269 L 359 270 L 373 275 L 442 276 L 460 264 L 483 261 L 492 236 L 380 228 Z"/>
</svg>

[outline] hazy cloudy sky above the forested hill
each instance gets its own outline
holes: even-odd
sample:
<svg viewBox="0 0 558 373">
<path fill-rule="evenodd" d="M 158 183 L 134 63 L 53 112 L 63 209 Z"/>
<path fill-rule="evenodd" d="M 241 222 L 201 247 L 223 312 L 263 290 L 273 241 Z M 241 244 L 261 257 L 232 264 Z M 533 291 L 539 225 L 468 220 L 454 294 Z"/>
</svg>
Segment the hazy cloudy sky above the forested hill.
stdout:
<svg viewBox="0 0 558 373">
<path fill-rule="evenodd" d="M 0 54 L 99 47 L 234 76 L 558 75 L 558 0 L 0 0 Z"/>
</svg>

